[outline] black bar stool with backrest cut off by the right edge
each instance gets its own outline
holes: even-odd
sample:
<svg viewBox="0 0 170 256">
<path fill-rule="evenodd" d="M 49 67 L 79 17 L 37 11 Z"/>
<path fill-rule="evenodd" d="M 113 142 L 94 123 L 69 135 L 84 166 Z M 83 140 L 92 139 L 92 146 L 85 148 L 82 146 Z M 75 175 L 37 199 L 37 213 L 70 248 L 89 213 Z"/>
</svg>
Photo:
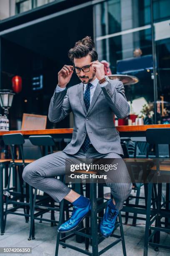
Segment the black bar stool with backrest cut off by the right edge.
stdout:
<svg viewBox="0 0 170 256">
<path fill-rule="evenodd" d="M 149 128 L 146 130 L 146 141 L 150 144 L 155 144 L 155 153 L 156 159 L 159 159 L 159 144 L 168 144 L 169 145 L 169 156 L 170 156 L 170 128 Z M 167 165 L 166 165 L 167 164 Z M 156 160 L 155 166 L 151 168 L 151 171 L 154 172 L 170 172 L 170 162 L 162 161 L 160 162 Z M 148 184 L 148 202 L 147 202 L 147 217 L 146 217 L 146 228 L 145 228 L 145 244 L 144 244 L 144 256 L 148 255 L 148 244 L 155 246 L 155 251 L 158 251 L 158 248 L 166 248 L 170 249 L 170 246 L 164 246 L 160 244 L 160 232 L 170 232 L 170 228 L 168 225 L 170 223 L 166 223 L 168 218 L 170 218 L 170 184 L 166 184 L 166 201 L 162 204 L 161 195 L 162 195 L 162 183 L 158 181 L 158 198 L 157 198 L 157 209 L 155 214 L 150 219 L 151 211 L 150 211 L 150 203 L 151 203 L 151 189 L 153 184 Z M 165 210 L 162 209 L 165 207 Z M 165 222 L 161 221 L 161 219 L 165 217 Z M 155 221 L 155 227 L 152 226 Z M 162 227 L 161 225 L 165 225 Z M 149 236 L 149 231 L 153 231 L 153 233 Z M 154 242 L 150 242 L 151 238 L 154 236 Z"/>
</svg>

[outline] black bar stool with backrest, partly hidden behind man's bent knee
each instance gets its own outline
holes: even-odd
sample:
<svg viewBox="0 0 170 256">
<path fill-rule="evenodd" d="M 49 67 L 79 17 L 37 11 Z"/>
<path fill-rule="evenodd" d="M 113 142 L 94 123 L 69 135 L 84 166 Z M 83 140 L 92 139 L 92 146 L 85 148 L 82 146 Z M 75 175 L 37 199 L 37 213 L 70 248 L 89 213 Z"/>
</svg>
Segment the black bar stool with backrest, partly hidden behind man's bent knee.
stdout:
<svg viewBox="0 0 170 256">
<path fill-rule="evenodd" d="M 30 142 L 34 146 L 39 146 L 42 156 L 46 156 L 48 154 L 48 151 L 50 154 L 53 153 L 52 147 L 55 146 L 55 141 L 52 138 L 52 136 L 45 135 L 45 136 L 29 136 Z M 44 149 L 44 150 L 43 150 Z M 63 175 L 59 177 L 61 180 L 63 180 Z M 35 220 L 40 220 L 40 222 L 47 221 L 51 223 L 51 226 L 53 227 L 58 223 L 57 220 L 55 220 L 54 211 L 60 211 L 60 204 L 55 205 L 55 200 L 52 199 L 49 195 L 44 193 L 44 196 L 38 196 L 37 195 L 37 189 L 35 189 L 34 197 L 33 197 L 33 205 L 32 205 L 32 212 L 31 212 L 31 225 L 30 225 L 30 235 L 28 240 L 35 239 Z M 31 191 L 32 194 L 32 191 Z M 38 200 L 37 200 L 38 197 Z M 37 201 L 36 201 L 37 200 Z M 70 206 L 71 207 L 71 206 Z M 68 207 L 65 204 L 65 211 L 68 216 Z M 35 210 L 38 210 L 37 213 L 35 213 Z M 51 211 L 51 220 L 42 218 L 42 214 L 45 212 Z M 39 217 L 40 216 L 40 217 Z M 64 220 L 64 219 L 63 219 Z"/>
</svg>

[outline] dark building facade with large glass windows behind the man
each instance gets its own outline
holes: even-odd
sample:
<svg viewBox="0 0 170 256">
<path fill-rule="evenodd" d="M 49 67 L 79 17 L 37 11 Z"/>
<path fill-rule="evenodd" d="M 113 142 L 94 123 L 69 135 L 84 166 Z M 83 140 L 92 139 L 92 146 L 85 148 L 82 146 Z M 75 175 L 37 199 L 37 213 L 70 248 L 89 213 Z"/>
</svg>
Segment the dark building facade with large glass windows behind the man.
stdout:
<svg viewBox="0 0 170 256">
<path fill-rule="evenodd" d="M 131 114 L 170 123 L 169 0 L 0 0 L 0 87 L 11 89 L 16 74 L 23 78 L 11 128 L 23 113 L 47 115 L 57 72 L 70 63 L 67 51 L 87 35 L 112 74 L 138 78 L 125 85 Z M 32 79 L 40 76 L 43 86 L 35 90 Z M 69 86 L 77 82 L 75 76 Z M 47 125 L 72 127 L 72 115 Z"/>
</svg>

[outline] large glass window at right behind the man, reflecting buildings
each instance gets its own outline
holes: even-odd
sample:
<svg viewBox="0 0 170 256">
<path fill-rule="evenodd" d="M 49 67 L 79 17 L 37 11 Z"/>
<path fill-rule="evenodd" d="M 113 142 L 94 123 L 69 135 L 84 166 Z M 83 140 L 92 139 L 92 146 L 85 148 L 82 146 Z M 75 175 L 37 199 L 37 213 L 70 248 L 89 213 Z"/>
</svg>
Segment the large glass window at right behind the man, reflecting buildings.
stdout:
<svg viewBox="0 0 170 256">
<path fill-rule="evenodd" d="M 139 82 L 134 85 L 125 85 L 125 95 L 131 107 L 135 100 L 140 102 L 142 99 L 153 115 L 154 83 L 150 0 L 108 0 L 95 5 L 94 10 L 95 41 L 99 60 L 106 60 L 110 63 L 112 74 L 128 74 L 139 79 Z M 153 0 L 158 123 L 170 123 L 169 10 L 169 0 Z M 134 109 L 131 108 L 131 110 L 133 113 Z M 142 112 L 141 108 L 141 112 L 135 114 L 140 116 Z"/>
</svg>

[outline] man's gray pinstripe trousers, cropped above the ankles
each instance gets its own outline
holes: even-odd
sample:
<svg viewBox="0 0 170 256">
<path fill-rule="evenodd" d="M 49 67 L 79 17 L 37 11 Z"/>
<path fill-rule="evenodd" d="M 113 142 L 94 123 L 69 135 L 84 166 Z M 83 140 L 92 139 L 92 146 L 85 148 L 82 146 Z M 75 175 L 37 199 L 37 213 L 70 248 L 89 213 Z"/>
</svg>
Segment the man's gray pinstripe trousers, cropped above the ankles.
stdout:
<svg viewBox="0 0 170 256">
<path fill-rule="evenodd" d="M 117 153 L 110 152 L 108 154 L 100 154 L 94 147 L 90 147 L 86 153 L 80 148 L 80 150 L 74 154 L 66 154 L 63 151 L 59 151 L 47 156 L 43 156 L 40 159 L 25 166 L 23 170 L 23 179 L 32 187 L 40 189 L 50 195 L 56 202 L 60 202 L 69 192 L 70 188 L 62 183 L 55 177 L 65 174 L 65 159 L 75 158 L 121 158 Z M 132 183 L 128 174 L 128 169 L 121 161 L 121 174 L 124 176 L 124 180 L 127 183 L 111 183 L 107 184 L 110 187 L 111 193 L 116 203 L 118 210 L 122 209 L 124 201 L 130 195 L 132 190 Z M 124 163 L 124 164 L 123 164 Z"/>
</svg>

